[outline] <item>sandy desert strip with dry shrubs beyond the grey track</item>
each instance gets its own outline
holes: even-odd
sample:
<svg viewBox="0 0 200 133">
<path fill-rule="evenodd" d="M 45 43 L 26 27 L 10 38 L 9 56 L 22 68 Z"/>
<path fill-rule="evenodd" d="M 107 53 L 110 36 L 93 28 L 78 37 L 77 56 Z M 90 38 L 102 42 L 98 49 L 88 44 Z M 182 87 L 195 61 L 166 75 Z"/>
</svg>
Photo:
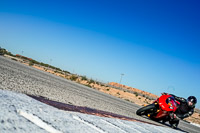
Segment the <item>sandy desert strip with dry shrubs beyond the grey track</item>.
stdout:
<svg viewBox="0 0 200 133">
<path fill-rule="evenodd" d="M 88 79 L 86 76 L 79 76 L 76 74 L 71 74 L 68 71 L 62 71 L 60 69 L 53 69 L 50 67 L 42 66 L 41 64 L 34 64 L 32 61 L 12 57 L 9 55 L 4 55 L 6 57 L 9 57 L 15 61 L 22 62 L 26 65 L 32 66 L 34 68 L 40 69 L 42 71 L 46 71 L 52 74 L 55 74 L 57 76 L 66 78 L 68 80 L 75 81 L 77 83 L 83 84 L 87 87 L 94 88 L 96 90 L 99 90 L 101 92 L 107 93 L 109 95 L 124 99 L 126 101 L 138 104 L 138 105 L 146 105 L 152 103 L 156 98 L 158 98 L 157 95 L 154 95 L 149 92 L 145 92 L 136 88 L 132 88 L 129 86 L 121 85 L 118 83 L 111 82 L 109 84 L 100 83 L 97 81 L 94 81 L 93 79 Z M 47 65 L 47 64 L 45 64 Z M 200 124 L 200 113 L 199 110 L 196 110 L 195 113 L 185 120 Z"/>
</svg>

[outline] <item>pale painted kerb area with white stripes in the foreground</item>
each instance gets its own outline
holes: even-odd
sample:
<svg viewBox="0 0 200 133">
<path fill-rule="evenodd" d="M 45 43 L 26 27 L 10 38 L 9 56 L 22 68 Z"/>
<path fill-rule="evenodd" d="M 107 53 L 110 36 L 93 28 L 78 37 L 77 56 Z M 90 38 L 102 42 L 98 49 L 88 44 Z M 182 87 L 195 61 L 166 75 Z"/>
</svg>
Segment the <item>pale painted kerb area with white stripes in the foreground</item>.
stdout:
<svg viewBox="0 0 200 133">
<path fill-rule="evenodd" d="M 1 133 L 182 133 L 143 122 L 62 111 L 21 93 L 0 90 Z"/>
</svg>

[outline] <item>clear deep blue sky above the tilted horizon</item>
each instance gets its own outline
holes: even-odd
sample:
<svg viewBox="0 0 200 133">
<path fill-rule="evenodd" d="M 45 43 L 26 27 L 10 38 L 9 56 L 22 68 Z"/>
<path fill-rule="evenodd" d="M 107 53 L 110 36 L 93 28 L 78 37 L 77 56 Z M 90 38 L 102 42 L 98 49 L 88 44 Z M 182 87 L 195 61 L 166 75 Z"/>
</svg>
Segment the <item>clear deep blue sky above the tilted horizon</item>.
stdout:
<svg viewBox="0 0 200 133">
<path fill-rule="evenodd" d="M 122 84 L 199 100 L 199 7 L 199 0 L 0 0 L 0 46 L 98 81 L 119 83 L 123 73 Z"/>
</svg>

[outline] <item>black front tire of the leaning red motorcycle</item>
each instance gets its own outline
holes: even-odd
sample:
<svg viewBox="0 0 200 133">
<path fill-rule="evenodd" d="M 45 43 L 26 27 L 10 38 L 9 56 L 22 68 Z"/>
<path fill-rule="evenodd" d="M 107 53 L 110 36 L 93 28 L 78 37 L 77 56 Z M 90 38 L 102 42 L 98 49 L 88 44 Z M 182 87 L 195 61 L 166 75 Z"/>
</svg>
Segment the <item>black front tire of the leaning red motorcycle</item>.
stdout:
<svg viewBox="0 0 200 133">
<path fill-rule="evenodd" d="M 154 104 L 149 104 L 145 107 L 142 107 L 136 111 L 136 114 L 141 115 L 147 115 L 147 113 L 153 112 L 156 109 Z"/>
</svg>

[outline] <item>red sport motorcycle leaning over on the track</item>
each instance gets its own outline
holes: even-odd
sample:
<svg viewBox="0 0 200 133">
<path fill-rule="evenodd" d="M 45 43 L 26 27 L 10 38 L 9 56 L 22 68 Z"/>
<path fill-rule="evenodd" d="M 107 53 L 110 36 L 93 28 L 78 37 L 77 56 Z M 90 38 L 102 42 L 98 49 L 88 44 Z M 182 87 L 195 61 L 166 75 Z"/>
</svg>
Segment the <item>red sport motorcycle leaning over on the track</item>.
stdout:
<svg viewBox="0 0 200 133">
<path fill-rule="evenodd" d="M 152 104 L 144 106 L 136 111 L 137 115 L 146 115 L 156 121 L 169 120 L 174 116 L 177 103 L 173 96 L 164 94 L 156 99 Z"/>
</svg>

